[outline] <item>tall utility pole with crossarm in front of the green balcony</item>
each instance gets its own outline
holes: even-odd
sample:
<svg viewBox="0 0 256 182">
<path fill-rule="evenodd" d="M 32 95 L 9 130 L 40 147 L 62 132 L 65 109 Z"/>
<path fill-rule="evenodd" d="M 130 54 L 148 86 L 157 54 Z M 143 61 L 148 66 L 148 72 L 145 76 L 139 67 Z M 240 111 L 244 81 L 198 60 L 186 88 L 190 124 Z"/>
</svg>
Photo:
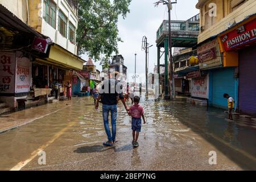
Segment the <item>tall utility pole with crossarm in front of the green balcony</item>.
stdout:
<svg viewBox="0 0 256 182">
<path fill-rule="evenodd" d="M 175 2 L 171 2 L 171 0 L 160 0 L 158 2 L 155 2 L 155 6 L 158 6 L 160 3 L 163 3 L 163 5 L 167 5 L 168 7 L 168 31 L 169 31 L 169 60 L 170 60 L 170 75 L 171 75 L 171 98 L 175 100 L 175 80 L 174 80 L 174 71 L 173 71 L 173 63 L 172 63 L 172 38 L 171 38 L 171 10 L 172 10 L 172 4 L 177 3 L 177 0 Z M 168 73 L 168 71 L 166 72 Z M 168 87 L 167 87 L 168 88 Z"/>
</svg>

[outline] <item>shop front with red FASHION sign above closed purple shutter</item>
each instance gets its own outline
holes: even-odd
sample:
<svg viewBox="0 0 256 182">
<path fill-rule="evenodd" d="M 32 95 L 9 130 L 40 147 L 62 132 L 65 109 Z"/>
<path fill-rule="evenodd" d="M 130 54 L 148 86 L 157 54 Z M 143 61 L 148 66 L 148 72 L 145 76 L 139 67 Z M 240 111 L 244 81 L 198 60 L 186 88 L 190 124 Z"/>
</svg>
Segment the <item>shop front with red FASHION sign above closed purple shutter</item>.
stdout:
<svg viewBox="0 0 256 182">
<path fill-rule="evenodd" d="M 237 109 L 241 113 L 256 114 L 256 15 L 250 16 L 219 36 L 221 51 L 239 59 Z M 233 56 L 234 59 L 234 56 Z M 230 61 L 230 60 L 229 60 Z"/>
</svg>

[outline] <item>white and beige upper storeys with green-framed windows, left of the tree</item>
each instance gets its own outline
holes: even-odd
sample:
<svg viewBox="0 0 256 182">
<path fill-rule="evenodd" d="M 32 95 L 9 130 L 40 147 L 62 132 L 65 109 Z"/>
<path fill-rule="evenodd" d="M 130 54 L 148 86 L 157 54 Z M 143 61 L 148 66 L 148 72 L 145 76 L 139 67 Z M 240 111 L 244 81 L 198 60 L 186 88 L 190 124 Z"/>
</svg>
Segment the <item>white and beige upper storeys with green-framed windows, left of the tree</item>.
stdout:
<svg viewBox="0 0 256 182">
<path fill-rule="evenodd" d="M 59 46 L 77 55 L 77 9 L 72 0 L 0 0 L 9 11 Z"/>
</svg>

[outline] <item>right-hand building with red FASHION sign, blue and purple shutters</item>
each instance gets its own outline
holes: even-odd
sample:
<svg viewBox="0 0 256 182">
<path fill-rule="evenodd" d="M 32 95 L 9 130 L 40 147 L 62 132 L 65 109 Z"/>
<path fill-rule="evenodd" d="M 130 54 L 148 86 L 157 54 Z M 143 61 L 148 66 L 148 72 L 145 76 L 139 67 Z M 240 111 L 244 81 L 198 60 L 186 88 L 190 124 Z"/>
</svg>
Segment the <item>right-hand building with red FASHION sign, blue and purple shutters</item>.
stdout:
<svg viewBox="0 0 256 182">
<path fill-rule="evenodd" d="M 199 1 L 200 35 L 197 53 L 201 71 L 208 73 L 209 105 L 227 107 L 232 96 L 241 113 L 256 114 L 254 81 L 256 1 Z"/>
</svg>

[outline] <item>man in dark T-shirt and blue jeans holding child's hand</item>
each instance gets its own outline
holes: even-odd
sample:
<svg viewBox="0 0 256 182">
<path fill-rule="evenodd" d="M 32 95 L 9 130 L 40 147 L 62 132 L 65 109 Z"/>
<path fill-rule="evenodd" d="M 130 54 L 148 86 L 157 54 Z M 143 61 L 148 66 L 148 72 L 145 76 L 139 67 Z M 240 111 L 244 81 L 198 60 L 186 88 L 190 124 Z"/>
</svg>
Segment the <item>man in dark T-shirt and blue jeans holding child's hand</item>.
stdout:
<svg viewBox="0 0 256 182">
<path fill-rule="evenodd" d="M 117 75 L 117 73 L 115 73 Z M 116 135 L 116 126 L 117 126 L 117 107 L 118 107 L 118 97 L 122 101 L 123 106 L 125 106 L 126 111 L 129 111 L 129 107 L 126 105 L 126 102 L 122 93 L 122 84 L 116 81 L 111 77 L 109 73 L 109 78 L 102 82 L 103 85 L 99 85 L 100 95 L 97 98 L 95 109 L 98 109 L 98 102 L 102 101 L 102 115 L 104 120 L 104 127 L 106 135 L 108 136 L 108 141 L 104 142 L 105 146 L 113 146 L 117 140 L 115 139 Z M 109 128 L 109 111 L 111 113 L 111 124 L 112 132 Z"/>
</svg>

